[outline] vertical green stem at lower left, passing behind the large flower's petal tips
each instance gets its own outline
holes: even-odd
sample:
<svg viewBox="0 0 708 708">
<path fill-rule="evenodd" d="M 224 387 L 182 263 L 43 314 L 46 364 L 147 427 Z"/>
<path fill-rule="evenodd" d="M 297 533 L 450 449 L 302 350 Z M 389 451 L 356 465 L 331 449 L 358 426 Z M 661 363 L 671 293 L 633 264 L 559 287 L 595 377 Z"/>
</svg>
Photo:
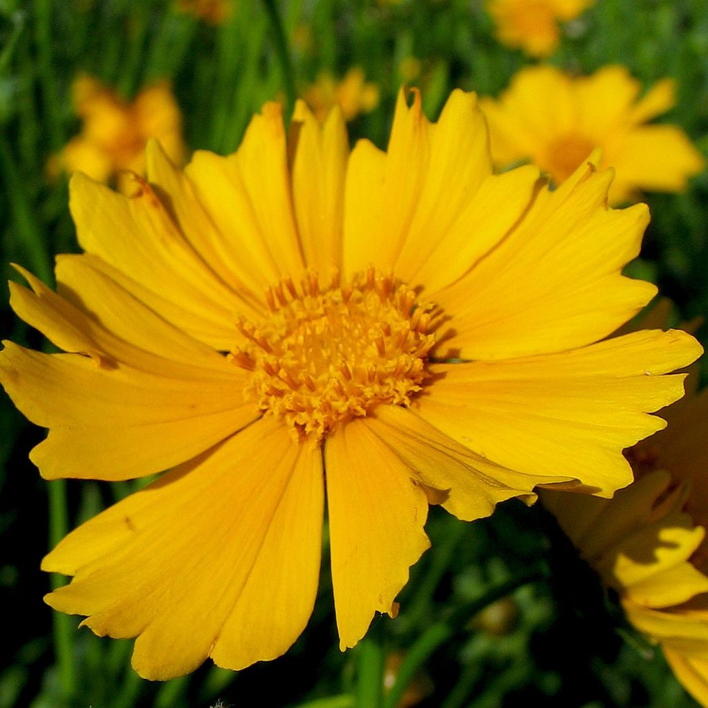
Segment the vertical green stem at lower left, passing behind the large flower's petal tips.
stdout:
<svg viewBox="0 0 708 708">
<path fill-rule="evenodd" d="M 69 520 L 67 515 L 67 483 L 64 479 L 54 479 L 47 483 L 49 495 L 49 543 L 54 548 L 67 535 Z M 50 573 L 52 590 L 61 588 L 67 578 L 59 573 Z M 74 669 L 74 619 L 62 612 L 52 613 L 52 633 L 59 669 L 59 687 L 64 698 L 76 693 L 76 670 Z"/>
</svg>

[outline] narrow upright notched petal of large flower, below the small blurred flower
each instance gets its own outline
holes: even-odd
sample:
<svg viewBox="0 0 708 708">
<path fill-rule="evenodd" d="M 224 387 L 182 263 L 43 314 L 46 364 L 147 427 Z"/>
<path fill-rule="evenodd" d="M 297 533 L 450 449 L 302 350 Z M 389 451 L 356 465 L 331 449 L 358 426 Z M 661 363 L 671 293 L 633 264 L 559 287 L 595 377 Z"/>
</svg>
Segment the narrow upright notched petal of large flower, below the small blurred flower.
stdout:
<svg viewBox="0 0 708 708">
<path fill-rule="evenodd" d="M 341 268 L 344 178 L 349 143 L 341 111 L 334 108 L 320 127 L 309 108 L 295 108 L 297 149 L 292 166 L 292 199 L 307 265 L 323 275 Z M 292 126 L 291 126 L 292 130 Z"/>
</svg>

